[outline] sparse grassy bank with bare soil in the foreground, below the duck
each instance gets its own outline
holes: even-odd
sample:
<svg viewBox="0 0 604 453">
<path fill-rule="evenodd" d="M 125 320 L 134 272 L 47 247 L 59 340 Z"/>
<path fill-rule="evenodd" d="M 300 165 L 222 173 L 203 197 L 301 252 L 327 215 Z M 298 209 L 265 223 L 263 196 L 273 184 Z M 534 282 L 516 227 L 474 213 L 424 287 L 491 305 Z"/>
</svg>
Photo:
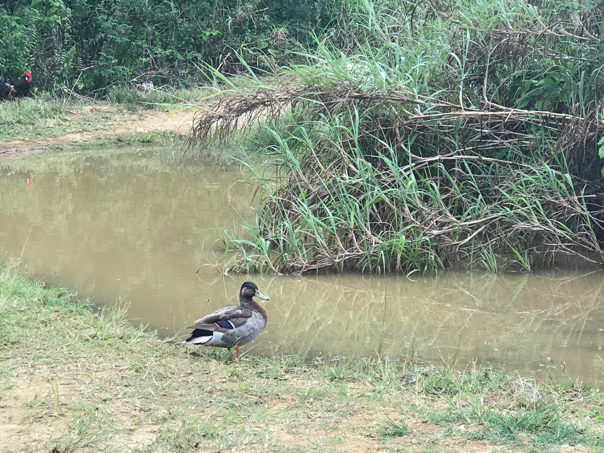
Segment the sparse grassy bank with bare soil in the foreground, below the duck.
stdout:
<svg viewBox="0 0 604 453">
<path fill-rule="evenodd" d="M 489 368 L 184 349 L 0 272 L 2 451 L 597 451 L 604 394 Z M 576 446 L 576 447 L 575 447 Z M 574 448 L 574 450 L 573 450 Z"/>
</svg>

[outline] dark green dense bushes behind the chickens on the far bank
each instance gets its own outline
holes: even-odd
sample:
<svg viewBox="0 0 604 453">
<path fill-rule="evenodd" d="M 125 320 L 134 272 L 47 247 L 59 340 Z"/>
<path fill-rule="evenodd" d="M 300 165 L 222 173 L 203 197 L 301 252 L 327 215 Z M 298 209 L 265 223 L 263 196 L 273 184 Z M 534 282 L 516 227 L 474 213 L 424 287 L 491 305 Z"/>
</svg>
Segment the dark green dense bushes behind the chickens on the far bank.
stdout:
<svg viewBox="0 0 604 453">
<path fill-rule="evenodd" d="M 170 86 L 223 72 L 275 67 L 313 33 L 329 31 L 347 0 L 8 0 L 0 5 L 0 78 L 25 69 L 53 92 L 104 92 L 153 68 Z"/>
</svg>

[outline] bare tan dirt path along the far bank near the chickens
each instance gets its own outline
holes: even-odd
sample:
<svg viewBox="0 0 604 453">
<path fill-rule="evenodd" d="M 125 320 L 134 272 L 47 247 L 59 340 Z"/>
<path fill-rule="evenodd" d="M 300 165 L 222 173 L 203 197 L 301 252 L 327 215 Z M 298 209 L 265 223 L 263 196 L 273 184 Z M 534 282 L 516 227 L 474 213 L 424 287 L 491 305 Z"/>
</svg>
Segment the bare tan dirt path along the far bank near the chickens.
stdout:
<svg viewBox="0 0 604 453">
<path fill-rule="evenodd" d="M 95 121 L 99 123 L 99 130 L 74 132 L 59 137 L 44 137 L 33 140 L 0 141 L 0 157 L 31 155 L 52 146 L 91 143 L 104 138 L 131 133 L 164 131 L 188 133 L 191 128 L 191 121 L 196 113 L 198 112 L 193 109 L 179 109 L 169 112 L 141 110 L 135 113 L 126 113 L 115 106 L 87 107 L 82 113 L 72 115 L 70 120 L 77 123 L 79 118 L 85 115 L 95 118 Z"/>
</svg>

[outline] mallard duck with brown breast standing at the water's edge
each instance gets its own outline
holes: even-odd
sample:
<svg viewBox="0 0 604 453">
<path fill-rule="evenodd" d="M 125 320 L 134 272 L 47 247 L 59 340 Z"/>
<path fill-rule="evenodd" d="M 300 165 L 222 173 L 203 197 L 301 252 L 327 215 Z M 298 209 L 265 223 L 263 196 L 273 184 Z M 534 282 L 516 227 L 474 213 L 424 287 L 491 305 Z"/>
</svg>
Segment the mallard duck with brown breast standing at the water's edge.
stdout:
<svg viewBox="0 0 604 453">
<path fill-rule="evenodd" d="M 266 326 L 266 310 L 252 299 L 254 296 L 268 300 L 255 283 L 246 281 L 239 290 L 239 307 L 224 307 L 195 321 L 187 327 L 194 330 L 183 343 L 228 349 L 234 346 L 239 358 L 239 346 L 252 341 Z"/>
</svg>

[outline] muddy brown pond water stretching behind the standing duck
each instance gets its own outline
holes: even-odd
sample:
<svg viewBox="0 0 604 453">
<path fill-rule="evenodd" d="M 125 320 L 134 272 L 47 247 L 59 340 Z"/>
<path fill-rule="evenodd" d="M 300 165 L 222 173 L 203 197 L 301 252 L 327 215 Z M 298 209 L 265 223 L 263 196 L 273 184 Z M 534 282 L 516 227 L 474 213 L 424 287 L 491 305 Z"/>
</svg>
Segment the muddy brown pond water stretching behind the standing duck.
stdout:
<svg viewBox="0 0 604 453">
<path fill-rule="evenodd" d="M 604 272 L 222 277 L 223 231 L 238 212 L 253 216 L 242 170 L 144 152 L 28 159 L 0 162 L 5 260 L 98 305 L 129 303 L 132 322 L 161 335 L 236 303 L 251 279 L 271 297 L 252 355 L 457 356 L 460 366 L 604 378 Z"/>
</svg>

